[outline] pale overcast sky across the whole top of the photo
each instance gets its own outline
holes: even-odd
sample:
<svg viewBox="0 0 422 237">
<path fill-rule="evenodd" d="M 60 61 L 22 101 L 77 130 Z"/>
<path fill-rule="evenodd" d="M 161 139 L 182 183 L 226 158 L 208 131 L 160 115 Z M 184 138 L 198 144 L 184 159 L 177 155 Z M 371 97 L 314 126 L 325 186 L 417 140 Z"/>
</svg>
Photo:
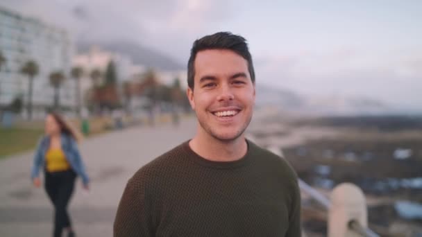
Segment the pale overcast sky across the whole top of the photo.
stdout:
<svg viewBox="0 0 422 237">
<path fill-rule="evenodd" d="M 422 1 L 1 0 L 75 39 L 131 40 L 186 64 L 197 38 L 243 35 L 257 82 L 422 110 Z"/>
</svg>

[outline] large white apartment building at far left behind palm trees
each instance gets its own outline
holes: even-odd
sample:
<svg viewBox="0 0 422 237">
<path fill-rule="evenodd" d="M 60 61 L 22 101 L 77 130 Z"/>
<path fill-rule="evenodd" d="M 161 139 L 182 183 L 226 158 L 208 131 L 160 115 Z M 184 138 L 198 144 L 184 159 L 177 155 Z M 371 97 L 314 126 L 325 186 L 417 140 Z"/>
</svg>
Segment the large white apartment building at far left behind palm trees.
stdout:
<svg viewBox="0 0 422 237">
<path fill-rule="evenodd" d="M 75 82 L 70 78 L 73 46 L 65 30 L 45 24 L 39 19 L 25 17 L 18 12 L 0 7 L 0 51 L 6 62 L 0 69 L 0 107 L 5 107 L 17 96 L 28 103 L 28 78 L 20 69 L 28 60 L 34 60 L 39 73 L 33 80 L 33 117 L 44 116 L 53 105 L 53 88 L 49 74 L 62 71 L 67 80 L 60 87 L 60 105 L 74 109 Z M 26 109 L 23 109 L 26 115 Z"/>
</svg>

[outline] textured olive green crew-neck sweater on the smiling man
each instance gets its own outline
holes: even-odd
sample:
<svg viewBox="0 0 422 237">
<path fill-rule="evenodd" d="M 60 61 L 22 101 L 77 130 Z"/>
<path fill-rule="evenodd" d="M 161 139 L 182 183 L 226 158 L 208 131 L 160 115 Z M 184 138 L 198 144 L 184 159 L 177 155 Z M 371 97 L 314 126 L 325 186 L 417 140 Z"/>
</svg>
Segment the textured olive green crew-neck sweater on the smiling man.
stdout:
<svg viewBox="0 0 422 237">
<path fill-rule="evenodd" d="M 301 236 L 301 198 L 287 162 L 248 141 L 237 161 L 210 161 L 185 142 L 133 175 L 114 236 Z"/>
</svg>

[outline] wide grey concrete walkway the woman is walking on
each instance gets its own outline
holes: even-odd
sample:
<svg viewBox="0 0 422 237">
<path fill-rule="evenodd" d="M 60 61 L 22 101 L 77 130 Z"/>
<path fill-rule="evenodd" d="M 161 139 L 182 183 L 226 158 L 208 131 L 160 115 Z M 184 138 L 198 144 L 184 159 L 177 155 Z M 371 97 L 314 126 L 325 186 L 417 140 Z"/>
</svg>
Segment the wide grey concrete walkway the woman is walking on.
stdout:
<svg viewBox="0 0 422 237">
<path fill-rule="evenodd" d="M 112 236 L 112 223 L 127 180 L 141 166 L 191 138 L 196 121 L 155 128 L 129 128 L 87 139 L 80 145 L 92 182 L 76 191 L 69 212 L 77 236 Z M 53 207 L 44 188 L 30 180 L 33 152 L 0 161 L 0 236 L 51 236 Z"/>
</svg>

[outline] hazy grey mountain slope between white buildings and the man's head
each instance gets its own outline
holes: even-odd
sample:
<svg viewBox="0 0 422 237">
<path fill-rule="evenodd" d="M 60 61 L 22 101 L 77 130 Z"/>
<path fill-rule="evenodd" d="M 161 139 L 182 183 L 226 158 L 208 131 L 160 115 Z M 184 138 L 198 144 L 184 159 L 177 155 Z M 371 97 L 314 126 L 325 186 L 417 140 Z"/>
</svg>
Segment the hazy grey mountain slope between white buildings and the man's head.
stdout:
<svg viewBox="0 0 422 237">
<path fill-rule="evenodd" d="M 148 49 L 145 46 L 128 41 L 115 42 L 78 42 L 77 49 L 79 53 L 86 52 L 92 45 L 99 46 L 107 51 L 128 55 L 134 63 L 142 64 L 146 67 L 153 67 L 164 71 L 178 71 L 186 69 L 183 64 L 169 58 L 167 55 Z"/>
</svg>

